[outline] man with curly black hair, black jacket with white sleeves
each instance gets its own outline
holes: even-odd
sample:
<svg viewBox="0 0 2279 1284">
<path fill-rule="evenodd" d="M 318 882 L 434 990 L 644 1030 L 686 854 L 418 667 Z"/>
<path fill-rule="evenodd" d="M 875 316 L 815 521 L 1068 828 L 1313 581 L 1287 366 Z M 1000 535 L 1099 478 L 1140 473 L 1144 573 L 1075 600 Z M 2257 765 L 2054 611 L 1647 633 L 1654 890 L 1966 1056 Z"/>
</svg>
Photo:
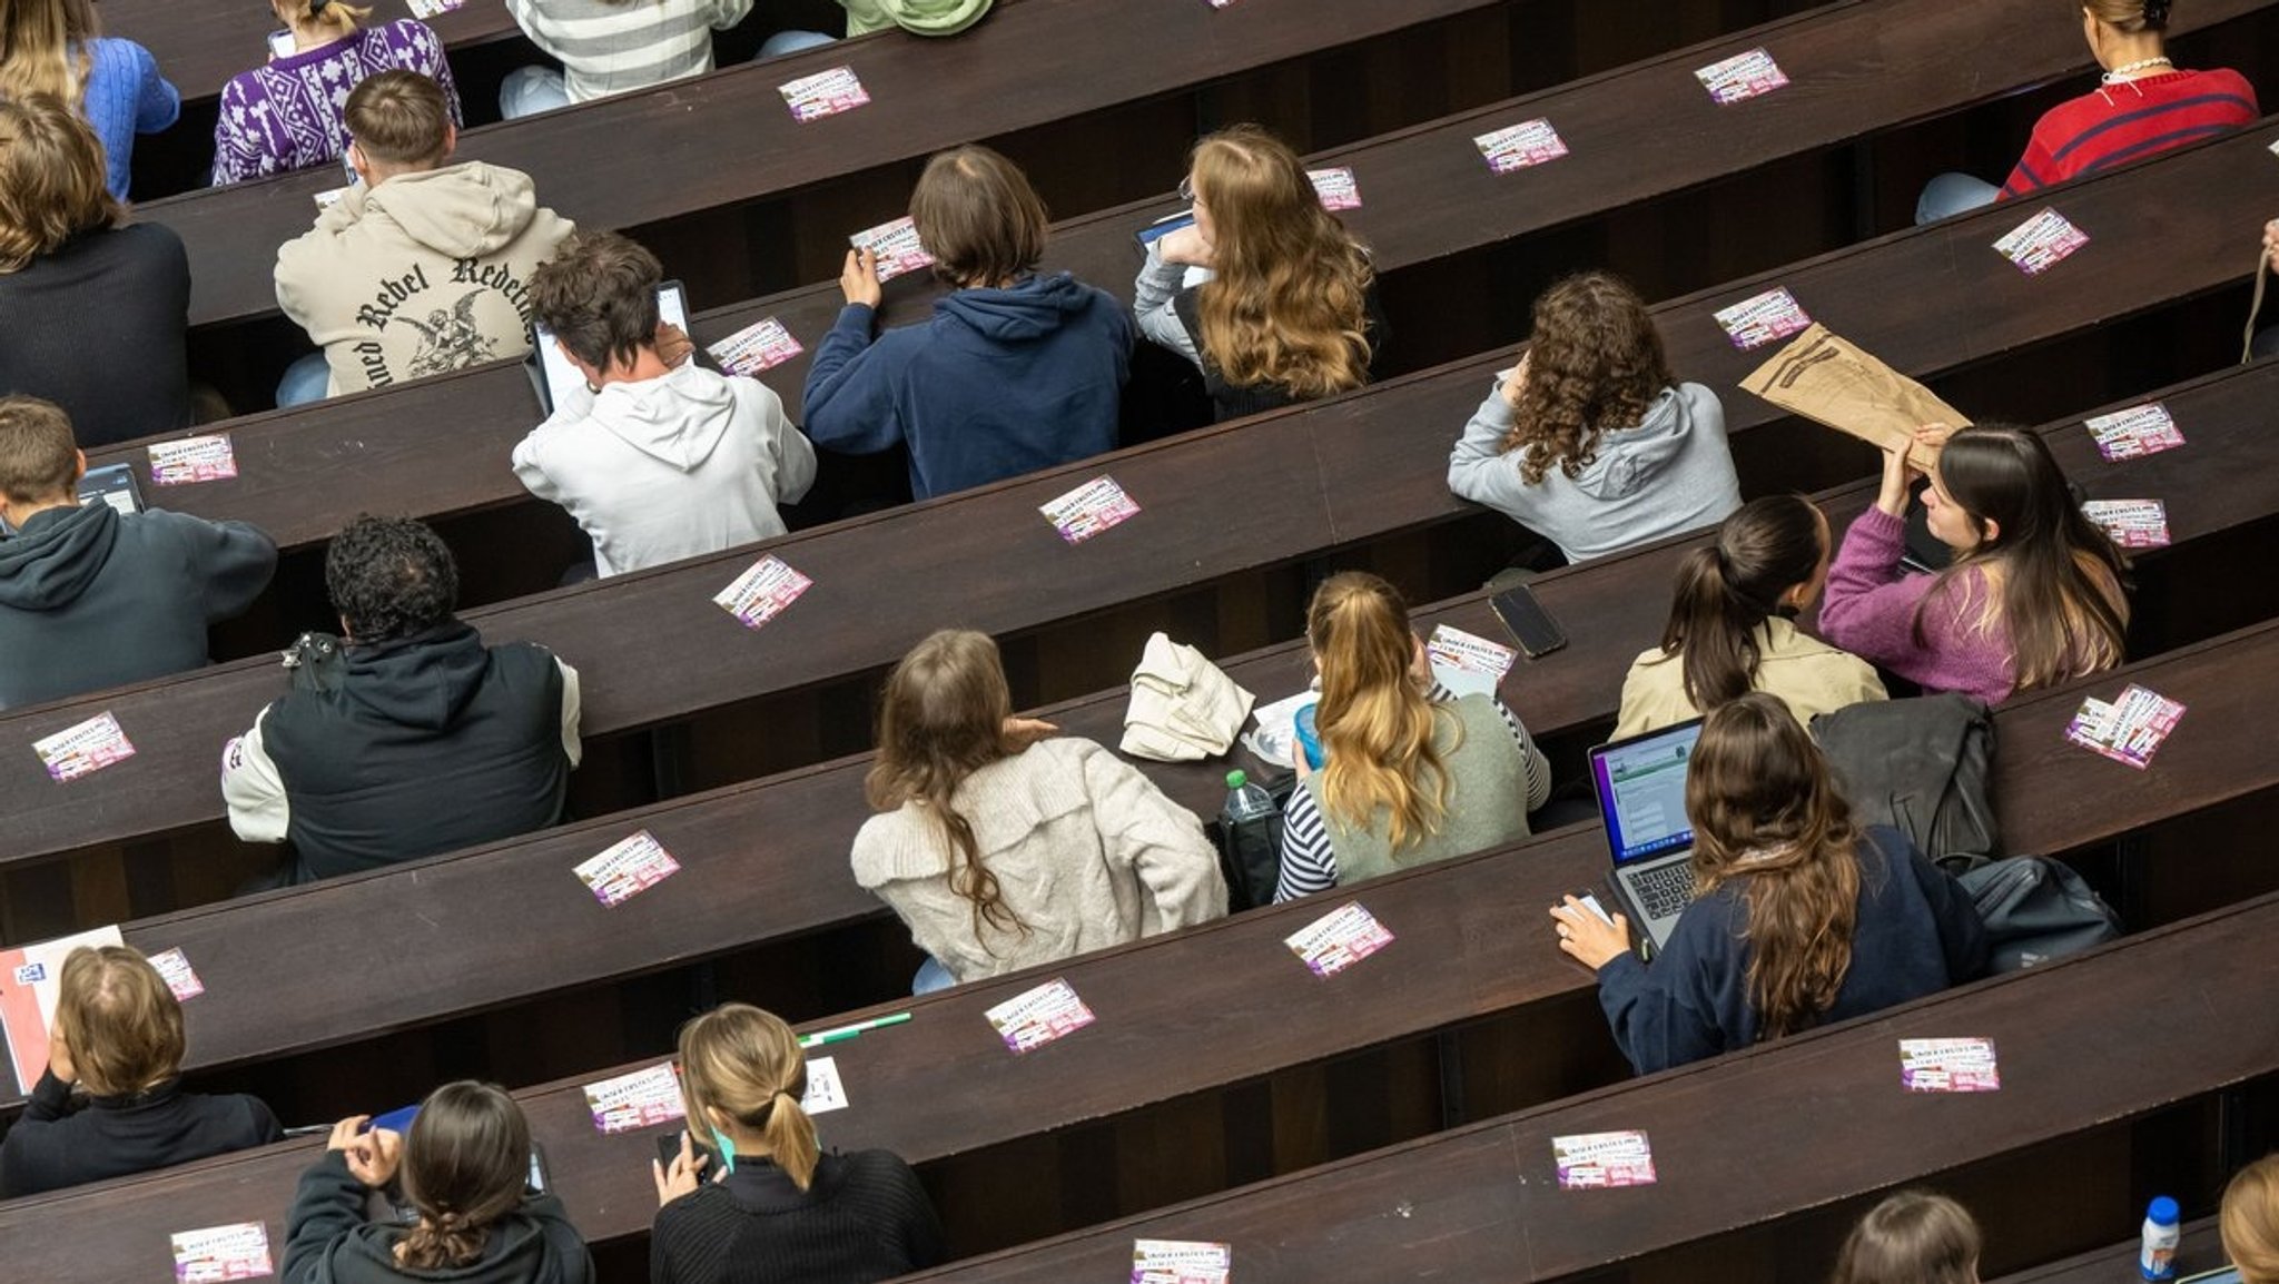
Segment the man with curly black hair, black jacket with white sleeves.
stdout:
<svg viewBox="0 0 2279 1284">
<path fill-rule="evenodd" d="M 221 750 L 246 842 L 292 842 L 289 883 L 378 869 L 561 819 L 579 764 L 577 671 L 483 645 L 458 566 L 410 518 L 358 518 L 324 554 L 340 639 L 305 634 L 292 689 Z"/>
</svg>

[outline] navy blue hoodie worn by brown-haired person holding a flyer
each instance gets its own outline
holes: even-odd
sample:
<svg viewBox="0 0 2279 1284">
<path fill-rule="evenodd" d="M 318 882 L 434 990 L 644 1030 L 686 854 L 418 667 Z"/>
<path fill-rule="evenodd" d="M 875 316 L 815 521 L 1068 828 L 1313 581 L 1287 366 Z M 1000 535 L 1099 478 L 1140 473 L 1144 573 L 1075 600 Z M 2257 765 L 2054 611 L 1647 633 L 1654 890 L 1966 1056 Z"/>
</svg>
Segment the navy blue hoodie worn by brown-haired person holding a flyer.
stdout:
<svg viewBox="0 0 2279 1284">
<path fill-rule="evenodd" d="M 953 290 L 921 326 L 871 340 L 848 303 L 807 367 L 807 436 L 873 454 L 909 442 L 909 490 L 948 495 L 1117 447 L 1133 319 L 1067 271 Z"/>
</svg>

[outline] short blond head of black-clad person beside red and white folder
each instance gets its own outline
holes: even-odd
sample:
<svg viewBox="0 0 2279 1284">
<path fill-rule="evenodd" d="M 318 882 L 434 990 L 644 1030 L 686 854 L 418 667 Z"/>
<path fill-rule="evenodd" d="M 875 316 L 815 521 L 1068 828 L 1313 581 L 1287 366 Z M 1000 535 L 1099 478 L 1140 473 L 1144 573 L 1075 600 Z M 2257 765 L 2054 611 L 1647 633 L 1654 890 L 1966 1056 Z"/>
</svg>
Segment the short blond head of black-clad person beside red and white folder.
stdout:
<svg viewBox="0 0 2279 1284">
<path fill-rule="evenodd" d="M 182 1003 L 123 946 L 80 946 L 57 978 L 48 1065 L 96 1097 L 132 1097 L 182 1072 Z"/>
</svg>

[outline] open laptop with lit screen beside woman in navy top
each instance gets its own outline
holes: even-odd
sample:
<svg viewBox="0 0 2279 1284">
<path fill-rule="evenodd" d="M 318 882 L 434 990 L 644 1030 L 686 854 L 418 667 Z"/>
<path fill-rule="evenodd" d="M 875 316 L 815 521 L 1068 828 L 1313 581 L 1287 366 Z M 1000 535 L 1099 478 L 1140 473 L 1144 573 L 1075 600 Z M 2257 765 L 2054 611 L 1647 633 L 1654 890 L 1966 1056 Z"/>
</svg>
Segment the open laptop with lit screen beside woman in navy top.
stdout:
<svg viewBox="0 0 2279 1284">
<path fill-rule="evenodd" d="M 1614 894 L 1652 951 L 1671 940 L 1693 899 L 1693 823 L 1686 762 L 1702 721 L 1677 723 L 1591 750 L 1591 787 L 1614 851 Z"/>
</svg>

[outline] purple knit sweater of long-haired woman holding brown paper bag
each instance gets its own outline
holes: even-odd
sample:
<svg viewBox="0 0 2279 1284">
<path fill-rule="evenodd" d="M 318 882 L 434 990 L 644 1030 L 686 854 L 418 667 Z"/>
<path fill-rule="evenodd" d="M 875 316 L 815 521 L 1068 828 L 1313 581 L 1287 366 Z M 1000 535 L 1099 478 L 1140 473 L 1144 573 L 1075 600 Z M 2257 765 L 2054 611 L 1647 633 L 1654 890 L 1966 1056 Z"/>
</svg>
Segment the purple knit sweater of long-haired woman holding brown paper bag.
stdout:
<svg viewBox="0 0 2279 1284">
<path fill-rule="evenodd" d="M 1882 509 L 1853 520 L 1828 568 L 1821 636 L 1926 691 L 1960 691 L 1987 705 L 2001 702 L 2017 680 L 2010 671 L 2010 629 L 2001 620 L 1978 627 L 1985 577 L 1971 568 L 1944 577 L 1908 575 L 1898 566 L 1905 547 L 1905 522 Z M 1923 613 L 1923 645 L 1914 643 L 1917 607 Z"/>
</svg>

